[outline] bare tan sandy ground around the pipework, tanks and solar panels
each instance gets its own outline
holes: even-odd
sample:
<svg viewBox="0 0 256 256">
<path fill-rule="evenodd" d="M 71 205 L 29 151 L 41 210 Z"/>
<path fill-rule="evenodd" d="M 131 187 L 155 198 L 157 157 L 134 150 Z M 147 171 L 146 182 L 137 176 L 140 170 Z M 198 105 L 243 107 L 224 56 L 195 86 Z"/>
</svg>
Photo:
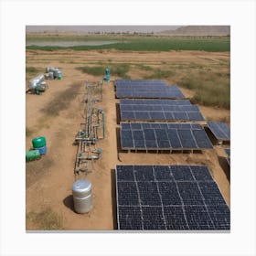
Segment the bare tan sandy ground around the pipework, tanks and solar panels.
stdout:
<svg viewBox="0 0 256 256">
<path fill-rule="evenodd" d="M 65 60 L 69 59 L 65 62 Z M 105 111 L 105 139 L 99 141 L 103 154 L 93 165 L 93 172 L 86 178 L 92 183 L 93 208 L 89 214 L 76 214 L 73 209 L 71 187 L 77 146 L 73 145 L 76 133 L 83 121 L 80 115 L 80 99 L 84 91 L 84 81 L 97 82 L 101 77 L 82 74 L 74 69 L 78 65 L 96 60 L 113 59 L 115 62 L 137 61 L 149 63 L 157 61 L 196 63 L 216 62 L 229 59 L 227 53 L 168 52 L 168 53 L 127 53 L 112 51 L 27 51 L 27 66 L 45 69 L 61 67 L 63 80 L 49 81 L 48 91 L 40 96 L 27 94 L 26 126 L 32 131 L 26 140 L 26 148 L 31 147 L 31 139 L 43 135 L 47 138 L 48 154 L 40 160 L 27 163 L 26 209 L 40 212 L 51 208 L 63 218 L 63 229 L 104 230 L 115 229 L 115 187 L 113 170 L 115 165 L 208 165 L 210 172 L 229 205 L 229 165 L 226 163 L 222 145 L 202 154 L 127 154 L 118 153 L 116 135 L 117 114 L 113 82 L 104 83 L 103 101 L 99 106 Z M 72 62 L 72 63 L 70 63 Z M 136 76 L 136 75 L 135 75 Z M 115 77 L 112 77 L 114 80 Z M 187 97 L 193 93 L 182 90 Z M 68 95 L 68 96 L 67 96 Z M 200 106 L 203 115 L 212 120 L 229 119 L 229 111 Z M 56 115 L 51 115 L 55 112 Z M 27 221 L 27 229 L 38 229 L 37 224 Z"/>
</svg>

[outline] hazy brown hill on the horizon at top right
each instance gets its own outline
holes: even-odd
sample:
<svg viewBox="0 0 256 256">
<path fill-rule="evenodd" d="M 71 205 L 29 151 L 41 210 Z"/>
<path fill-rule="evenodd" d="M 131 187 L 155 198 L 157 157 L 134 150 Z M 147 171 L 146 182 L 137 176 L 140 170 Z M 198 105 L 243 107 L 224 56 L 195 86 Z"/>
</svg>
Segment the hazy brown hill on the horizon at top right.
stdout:
<svg viewBox="0 0 256 256">
<path fill-rule="evenodd" d="M 161 34 L 172 36 L 227 36 L 230 35 L 229 26 L 186 26 L 175 30 L 165 30 Z"/>
</svg>

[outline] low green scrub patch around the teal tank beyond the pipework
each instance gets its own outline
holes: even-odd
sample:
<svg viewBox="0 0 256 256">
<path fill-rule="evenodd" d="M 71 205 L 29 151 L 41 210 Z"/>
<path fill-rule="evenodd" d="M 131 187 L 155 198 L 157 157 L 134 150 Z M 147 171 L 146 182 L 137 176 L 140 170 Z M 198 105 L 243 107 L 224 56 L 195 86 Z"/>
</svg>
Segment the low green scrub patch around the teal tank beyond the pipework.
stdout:
<svg viewBox="0 0 256 256">
<path fill-rule="evenodd" d="M 104 76 L 106 67 L 111 69 L 111 74 L 114 76 L 121 77 L 123 79 L 128 79 L 127 72 L 130 69 L 129 63 L 111 63 L 102 66 L 85 66 L 78 67 L 76 69 L 82 71 L 83 73 L 90 74 L 93 76 Z"/>
</svg>

